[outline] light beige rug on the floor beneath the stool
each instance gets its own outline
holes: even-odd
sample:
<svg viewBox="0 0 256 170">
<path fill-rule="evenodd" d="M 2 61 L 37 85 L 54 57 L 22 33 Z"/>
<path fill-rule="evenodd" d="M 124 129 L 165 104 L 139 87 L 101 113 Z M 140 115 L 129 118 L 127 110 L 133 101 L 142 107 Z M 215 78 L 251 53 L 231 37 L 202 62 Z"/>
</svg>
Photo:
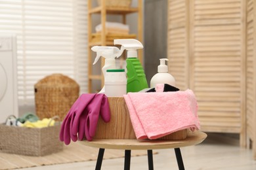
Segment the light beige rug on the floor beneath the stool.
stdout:
<svg viewBox="0 0 256 170">
<path fill-rule="evenodd" d="M 131 156 L 146 155 L 146 150 L 132 150 Z M 156 153 L 154 153 L 156 154 Z M 106 149 L 104 159 L 124 157 L 124 150 Z M 61 152 L 47 156 L 23 156 L 18 154 L 6 154 L 0 152 L 0 169 L 18 169 L 23 167 L 37 167 L 60 163 L 96 160 L 98 148 L 85 146 L 81 143 L 71 143 L 64 146 Z"/>
</svg>

